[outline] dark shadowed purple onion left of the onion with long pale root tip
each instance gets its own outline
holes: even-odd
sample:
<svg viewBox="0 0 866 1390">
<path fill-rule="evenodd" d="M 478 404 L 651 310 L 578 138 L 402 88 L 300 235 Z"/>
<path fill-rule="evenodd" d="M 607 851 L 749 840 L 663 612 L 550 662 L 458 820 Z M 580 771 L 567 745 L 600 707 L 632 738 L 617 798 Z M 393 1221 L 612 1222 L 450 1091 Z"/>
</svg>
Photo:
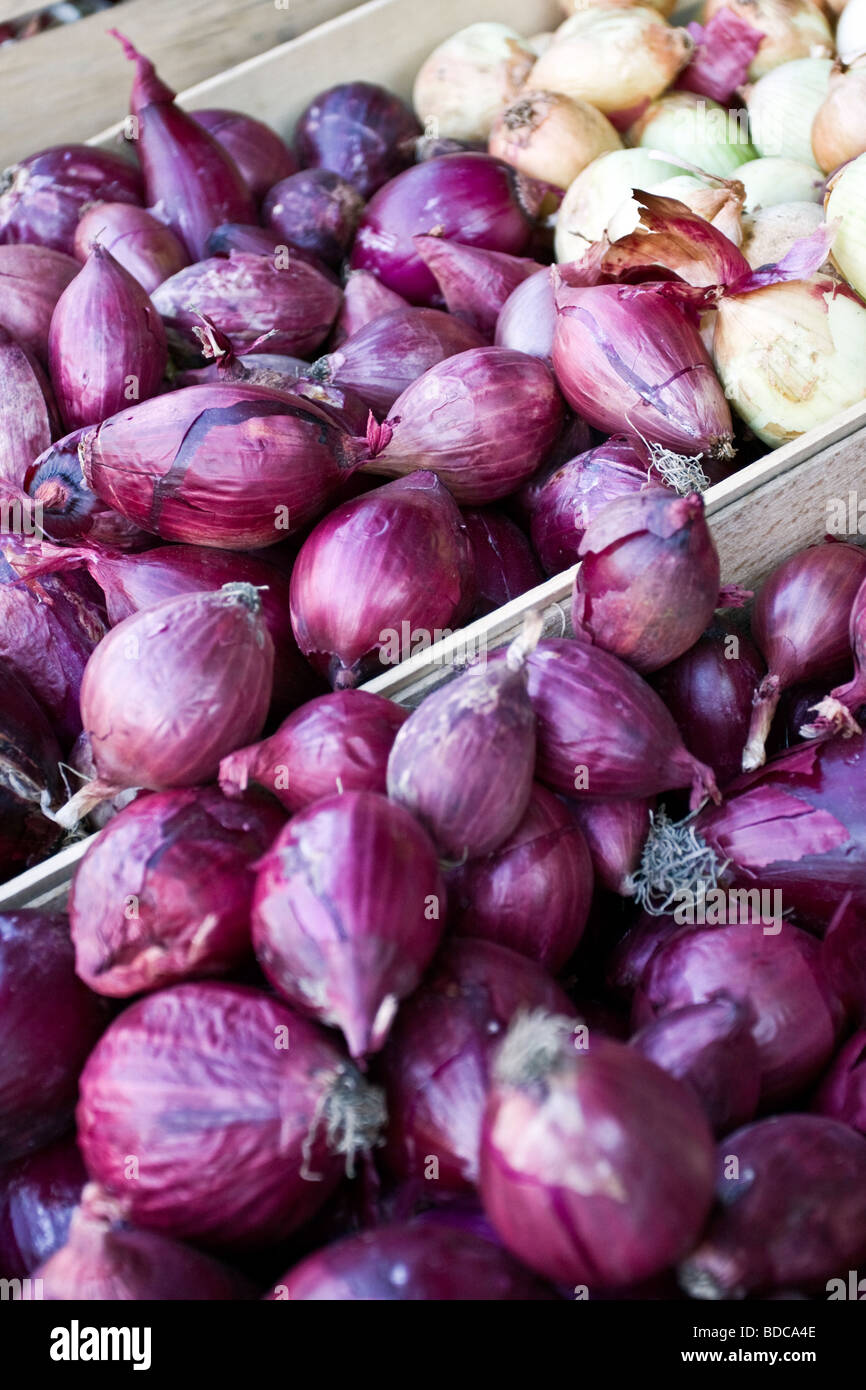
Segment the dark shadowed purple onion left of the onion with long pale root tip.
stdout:
<svg viewBox="0 0 866 1390">
<path fill-rule="evenodd" d="M 726 787 L 740 776 L 752 695 L 763 662 L 742 632 L 713 624 L 683 656 L 653 673 L 652 687 L 671 712 L 685 746 Z"/>
</svg>

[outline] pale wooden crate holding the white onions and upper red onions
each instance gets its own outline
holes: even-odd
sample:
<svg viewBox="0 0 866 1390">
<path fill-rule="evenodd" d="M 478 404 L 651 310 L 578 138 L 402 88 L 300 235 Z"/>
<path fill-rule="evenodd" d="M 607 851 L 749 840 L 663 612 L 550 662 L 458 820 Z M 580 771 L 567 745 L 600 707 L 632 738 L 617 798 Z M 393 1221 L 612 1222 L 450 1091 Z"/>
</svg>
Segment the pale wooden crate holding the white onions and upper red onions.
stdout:
<svg viewBox="0 0 866 1390">
<path fill-rule="evenodd" d="M 131 0 L 129 8 L 136 4 Z M 126 7 L 124 7 L 126 8 Z M 185 92 L 185 106 L 232 106 L 270 121 L 285 133 L 304 104 L 324 85 L 364 76 L 409 95 L 427 53 L 470 19 L 502 19 L 525 33 L 552 26 L 555 0 L 373 0 L 342 14 L 292 43 L 249 58 Z M 85 22 L 85 21 L 82 21 Z M 110 145 L 120 124 L 95 136 Z M 706 492 L 710 527 L 726 582 L 753 588 L 792 550 L 820 541 L 834 499 L 862 488 L 866 502 L 866 403 L 827 425 L 776 449 Z M 866 534 L 866 518 L 863 521 Z M 570 631 L 574 570 L 556 575 L 442 642 L 409 657 L 370 681 L 366 689 L 414 706 L 449 680 L 466 652 L 495 649 L 521 628 L 531 609 L 541 609 L 545 635 Z M 63 905 L 75 865 L 90 840 L 70 845 L 53 859 L 0 885 L 0 910 Z"/>
</svg>

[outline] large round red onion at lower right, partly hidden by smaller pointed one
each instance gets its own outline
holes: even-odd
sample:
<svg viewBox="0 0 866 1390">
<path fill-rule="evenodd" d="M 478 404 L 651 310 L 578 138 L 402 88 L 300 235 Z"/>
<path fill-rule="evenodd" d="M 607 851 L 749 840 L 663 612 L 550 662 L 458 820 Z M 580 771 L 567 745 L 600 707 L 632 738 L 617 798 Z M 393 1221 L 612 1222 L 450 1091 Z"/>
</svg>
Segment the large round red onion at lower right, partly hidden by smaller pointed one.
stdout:
<svg viewBox="0 0 866 1390">
<path fill-rule="evenodd" d="M 680 933 L 649 960 L 632 1019 L 639 1027 L 719 994 L 749 1012 L 763 1106 L 798 1095 L 833 1056 L 841 1005 L 823 976 L 819 942 L 799 927 L 781 923 L 765 935 L 751 920 Z"/>
</svg>

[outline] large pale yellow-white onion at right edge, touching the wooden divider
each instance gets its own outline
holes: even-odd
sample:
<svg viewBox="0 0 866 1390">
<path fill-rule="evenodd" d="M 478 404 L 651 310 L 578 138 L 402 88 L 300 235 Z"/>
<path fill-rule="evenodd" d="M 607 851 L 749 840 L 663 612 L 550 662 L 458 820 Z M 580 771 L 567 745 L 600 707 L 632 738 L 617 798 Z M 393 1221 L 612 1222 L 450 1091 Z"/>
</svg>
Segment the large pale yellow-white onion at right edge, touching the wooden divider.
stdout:
<svg viewBox="0 0 866 1390">
<path fill-rule="evenodd" d="M 866 398 L 866 307 L 830 275 L 724 296 L 713 360 L 758 438 L 788 443 Z"/>
</svg>

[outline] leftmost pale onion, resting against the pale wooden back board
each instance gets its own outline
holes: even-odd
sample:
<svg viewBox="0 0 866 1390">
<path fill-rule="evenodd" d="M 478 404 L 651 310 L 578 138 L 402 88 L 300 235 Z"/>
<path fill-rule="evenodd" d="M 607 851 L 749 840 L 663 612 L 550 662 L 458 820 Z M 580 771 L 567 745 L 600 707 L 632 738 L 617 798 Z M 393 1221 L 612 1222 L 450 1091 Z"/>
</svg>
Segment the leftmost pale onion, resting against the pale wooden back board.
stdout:
<svg viewBox="0 0 866 1390">
<path fill-rule="evenodd" d="M 416 115 L 432 135 L 487 140 L 491 126 L 528 76 L 535 54 L 506 24 L 470 24 L 421 65 L 413 89 Z"/>
</svg>

